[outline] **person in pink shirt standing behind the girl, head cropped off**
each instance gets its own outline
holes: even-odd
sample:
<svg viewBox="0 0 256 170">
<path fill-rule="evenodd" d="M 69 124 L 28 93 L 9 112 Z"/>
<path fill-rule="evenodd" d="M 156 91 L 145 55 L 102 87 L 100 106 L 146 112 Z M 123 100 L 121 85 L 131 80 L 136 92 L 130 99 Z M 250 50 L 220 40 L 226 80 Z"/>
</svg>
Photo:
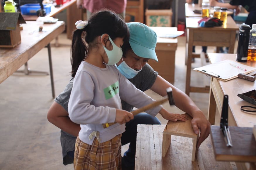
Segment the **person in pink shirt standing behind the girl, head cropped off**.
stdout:
<svg viewBox="0 0 256 170">
<path fill-rule="evenodd" d="M 91 13 L 98 11 L 100 9 L 109 9 L 115 13 L 122 16 L 125 20 L 125 8 L 127 0 L 77 0 L 77 8 L 85 8 L 87 20 L 89 19 Z"/>
</svg>

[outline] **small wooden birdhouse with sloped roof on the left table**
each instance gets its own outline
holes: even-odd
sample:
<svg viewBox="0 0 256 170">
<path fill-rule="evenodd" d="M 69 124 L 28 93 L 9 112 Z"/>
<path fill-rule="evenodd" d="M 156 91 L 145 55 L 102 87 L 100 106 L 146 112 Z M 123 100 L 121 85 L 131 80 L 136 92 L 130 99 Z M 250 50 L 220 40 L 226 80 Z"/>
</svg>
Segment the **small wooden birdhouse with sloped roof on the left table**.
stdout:
<svg viewBox="0 0 256 170">
<path fill-rule="evenodd" d="M 20 24 L 26 23 L 21 13 L 0 13 L 0 47 L 21 44 Z"/>
</svg>

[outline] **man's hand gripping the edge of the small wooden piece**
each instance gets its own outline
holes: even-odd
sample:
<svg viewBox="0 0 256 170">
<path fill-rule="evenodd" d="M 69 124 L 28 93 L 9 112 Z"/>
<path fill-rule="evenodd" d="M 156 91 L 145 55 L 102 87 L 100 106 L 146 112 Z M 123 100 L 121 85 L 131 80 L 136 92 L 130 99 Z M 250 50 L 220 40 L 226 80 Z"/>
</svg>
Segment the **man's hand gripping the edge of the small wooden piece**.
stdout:
<svg viewBox="0 0 256 170">
<path fill-rule="evenodd" d="M 206 117 L 193 117 L 191 126 L 196 134 L 198 134 L 200 130 L 200 136 L 197 141 L 197 148 L 199 148 L 201 143 L 209 136 L 211 124 Z"/>
</svg>

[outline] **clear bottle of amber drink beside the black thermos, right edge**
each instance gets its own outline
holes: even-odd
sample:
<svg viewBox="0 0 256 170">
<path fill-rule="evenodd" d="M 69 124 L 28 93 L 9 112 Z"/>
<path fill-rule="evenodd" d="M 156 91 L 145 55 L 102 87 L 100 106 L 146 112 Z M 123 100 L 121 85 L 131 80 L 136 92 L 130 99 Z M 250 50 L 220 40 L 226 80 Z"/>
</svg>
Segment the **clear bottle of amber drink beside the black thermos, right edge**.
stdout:
<svg viewBox="0 0 256 170">
<path fill-rule="evenodd" d="M 256 24 L 252 24 L 247 60 L 256 61 Z"/>
</svg>

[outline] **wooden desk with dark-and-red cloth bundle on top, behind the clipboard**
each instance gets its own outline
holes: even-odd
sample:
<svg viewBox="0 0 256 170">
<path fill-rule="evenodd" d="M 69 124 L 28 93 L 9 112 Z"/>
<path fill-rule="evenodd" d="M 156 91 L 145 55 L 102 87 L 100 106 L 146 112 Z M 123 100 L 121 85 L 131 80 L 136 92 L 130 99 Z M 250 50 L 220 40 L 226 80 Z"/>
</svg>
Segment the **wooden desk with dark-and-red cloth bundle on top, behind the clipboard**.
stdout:
<svg viewBox="0 0 256 170">
<path fill-rule="evenodd" d="M 186 46 L 186 90 L 185 93 L 189 96 L 190 92 L 209 93 L 209 87 L 192 87 L 190 86 L 191 79 L 191 63 L 193 58 L 193 46 L 216 46 L 229 47 L 229 53 L 234 53 L 235 35 L 239 30 L 235 21 L 228 16 L 227 24 L 220 27 L 199 27 L 198 21 L 201 18 L 186 17 L 187 27 L 187 46 Z"/>
</svg>

